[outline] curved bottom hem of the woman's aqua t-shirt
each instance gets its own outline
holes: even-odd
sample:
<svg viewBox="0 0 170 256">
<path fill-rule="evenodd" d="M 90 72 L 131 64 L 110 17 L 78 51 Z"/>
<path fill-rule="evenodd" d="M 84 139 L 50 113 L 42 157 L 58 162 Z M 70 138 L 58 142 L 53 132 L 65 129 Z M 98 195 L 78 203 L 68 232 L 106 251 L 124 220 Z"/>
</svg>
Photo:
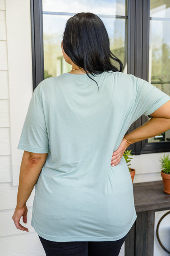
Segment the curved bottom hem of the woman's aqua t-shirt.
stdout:
<svg viewBox="0 0 170 256">
<path fill-rule="evenodd" d="M 90 236 L 64 236 L 64 237 L 54 237 L 51 235 L 46 235 L 42 232 L 40 232 L 37 228 L 34 227 L 34 221 L 31 221 L 31 226 L 34 227 L 34 230 L 37 232 L 37 235 L 39 235 L 40 237 L 49 240 L 49 241 L 54 241 L 54 242 L 71 242 L 71 241 L 116 241 L 119 240 L 121 238 L 123 238 L 131 229 L 131 227 L 133 226 L 134 222 L 136 221 L 137 215 L 136 215 L 136 211 L 134 212 L 133 215 L 133 219 L 130 223 L 129 228 L 122 233 L 121 235 L 118 236 L 113 236 L 113 237 L 90 237 Z"/>
</svg>

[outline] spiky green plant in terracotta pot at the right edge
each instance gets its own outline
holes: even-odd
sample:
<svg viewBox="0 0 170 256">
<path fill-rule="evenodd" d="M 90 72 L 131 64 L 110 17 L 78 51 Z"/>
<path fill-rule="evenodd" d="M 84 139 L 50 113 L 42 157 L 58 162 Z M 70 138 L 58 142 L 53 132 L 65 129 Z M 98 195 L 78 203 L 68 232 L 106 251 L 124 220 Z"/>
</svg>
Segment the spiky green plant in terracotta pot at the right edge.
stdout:
<svg viewBox="0 0 170 256">
<path fill-rule="evenodd" d="M 161 156 L 159 159 L 161 162 L 161 177 L 164 183 L 164 192 L 170 194 L 170 156 L 165 155 Z"/>
</svg>

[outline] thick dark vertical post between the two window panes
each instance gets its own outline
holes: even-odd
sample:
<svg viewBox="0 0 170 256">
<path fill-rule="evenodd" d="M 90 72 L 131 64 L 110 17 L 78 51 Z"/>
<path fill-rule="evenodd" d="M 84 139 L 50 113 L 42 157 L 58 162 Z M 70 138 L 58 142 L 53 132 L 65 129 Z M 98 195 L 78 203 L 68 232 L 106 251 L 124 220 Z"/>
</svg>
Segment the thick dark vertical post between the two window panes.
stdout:
<svg viewBox="0 0 170 256">
<path fill-rule="evenodd" d="M 129 0 L 127 12 L 127 73 L 148 81 L 150 0 Z M 145 116 L 138 118 L 127 133 L 146 121 Z M 147 140 L 144 140 L 130 145 L 132 153 L 139 155 L 146 143 Z"/>
</svg>

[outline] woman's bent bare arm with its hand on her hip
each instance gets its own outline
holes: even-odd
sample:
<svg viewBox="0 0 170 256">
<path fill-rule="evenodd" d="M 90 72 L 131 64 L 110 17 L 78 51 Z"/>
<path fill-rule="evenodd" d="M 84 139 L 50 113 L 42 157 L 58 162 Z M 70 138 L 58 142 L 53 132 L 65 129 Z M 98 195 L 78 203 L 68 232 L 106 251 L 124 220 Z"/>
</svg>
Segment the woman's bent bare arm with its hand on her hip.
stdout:
<svg viewBox="0 0 170 256">
<path fill-rule="evenodd" d="M 124 136 L 119 148 L 113 152 L 111 165 L 119 164 L 123 153 L 130 144 L 152 138 L 170 129 L 170 100 L 150 116 L 152 118 L 145 124 Z"/>
</svg>

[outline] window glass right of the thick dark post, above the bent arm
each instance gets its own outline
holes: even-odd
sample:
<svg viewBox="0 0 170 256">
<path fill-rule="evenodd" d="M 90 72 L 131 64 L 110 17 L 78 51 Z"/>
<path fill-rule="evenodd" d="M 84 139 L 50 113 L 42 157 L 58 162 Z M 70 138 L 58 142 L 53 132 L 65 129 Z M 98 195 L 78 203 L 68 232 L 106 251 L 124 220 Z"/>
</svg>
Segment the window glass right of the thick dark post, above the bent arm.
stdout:
<svg viewBox="0 0 170 256">
<path fill-rule="evenodd" d="M 170 1 L 150 0 L 149 82 L 170 95 Z M 148 142 L 170 141 L 170 130 Z"/>
</svg>

